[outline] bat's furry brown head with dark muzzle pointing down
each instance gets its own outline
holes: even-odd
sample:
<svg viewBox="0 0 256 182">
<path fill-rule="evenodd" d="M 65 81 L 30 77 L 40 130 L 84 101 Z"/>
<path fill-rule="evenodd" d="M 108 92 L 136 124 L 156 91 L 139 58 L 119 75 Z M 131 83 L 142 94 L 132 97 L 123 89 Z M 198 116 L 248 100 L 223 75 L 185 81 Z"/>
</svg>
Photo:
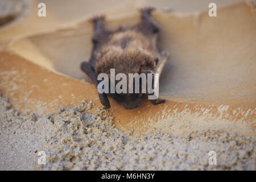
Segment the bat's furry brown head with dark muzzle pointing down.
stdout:
<svg viewBox="0 0 256 182">
<path fill-rule="evenodd" d="M 109 92 L 106 93 L 108 96 L 114 98 L 115 101 L 118 102 L 123 108 L 125 109 L 135 109 L 138 106 L 142 104 L 142 98 L 144 94 L 142 94 L 141 90 L 141 84 L 142 82 L 133 81 L 133 89 L 139 87 L 139 93 L 135 92 L 133 90 L 133 93 L 129 93 L 129 75 L 130 74 L 137 74 L 140 75 L 141 73 L 144 73 L 144 71 L 155 70 L 155 61 L 154 57 L 148 53 L 143 51 L 138 51 L 137 49 L 128 50 L 125 52 L 122 52 L 122 54 L 119 53 L 113 53 L 112 55 L 105 55 L 105 57 L 102 58 L 101 61 L 98 61 L 95 66 L 95 73 L 96 77 L 100 75 L 101 73 L 105 73 L 109 78 Z M 114 73 L 111 71 L 113 71 Z M 119 73 L 122 73 L 126 77 L 126 92 L 110 92 L 110 80 L 113 78 L 113 76 L 116 78 Z M 113 75 L 113 76 L 112 76 Z M 112 82 L 114 82 L 115 87 L 117 86 L 118 82 L 121 81 L 122 77 L 119 79 L 114 79 Z M 146 80 L 144 80 L 146 81 Z M 128 92 L 128 93 L 127 93 Z"/>
</svg>

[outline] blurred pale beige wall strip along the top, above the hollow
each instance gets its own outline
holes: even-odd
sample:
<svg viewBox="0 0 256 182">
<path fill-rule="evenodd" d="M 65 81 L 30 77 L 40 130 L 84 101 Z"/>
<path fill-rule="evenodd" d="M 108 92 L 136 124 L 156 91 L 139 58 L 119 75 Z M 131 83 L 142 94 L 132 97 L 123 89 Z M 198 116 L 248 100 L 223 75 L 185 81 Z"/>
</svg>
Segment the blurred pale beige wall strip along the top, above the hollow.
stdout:
<svg viewBox="0 0 256 182">
<path fill-rule="evenodd" d="M 57 27 L 65 26 L 76 20 L 91 16 L 115 12 L 116 15 L 123 15 L 136 11 L 135 7 L 154 6 L 159 9 L 170 8 L 175 11 L 198 11 L 207 10 L 210 2 L 216 2 L 217 7 L 230 5 L 242 0 L 160 0 L 160 1 L 128 1 L 128 0 L 30 0 L 30 15 L 22 22 L 9 28 L 0 29 L 0 49 L 5 48 L 10 40 L 24 35 L 36 34 L 38 32 L 54 30 Z M 37 16 L 38 3 L 44 2 L 47 6 L 47 17 Z"/>
</svg>

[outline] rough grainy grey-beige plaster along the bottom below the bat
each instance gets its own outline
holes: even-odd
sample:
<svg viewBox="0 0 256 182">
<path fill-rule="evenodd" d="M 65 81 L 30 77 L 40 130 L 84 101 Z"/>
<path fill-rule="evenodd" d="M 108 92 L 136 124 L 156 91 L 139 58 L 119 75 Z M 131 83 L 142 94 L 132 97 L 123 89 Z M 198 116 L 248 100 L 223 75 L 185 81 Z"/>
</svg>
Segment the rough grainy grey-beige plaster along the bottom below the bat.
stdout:
<svg viewBox="0 0 256 182">
<path fill-rule="evenodd" d="M 186 137 L 154 131 L 135 137 L 132 131 L 115 129 L 105 110 L 88 114 L 91 102 L 59 107 L 42 118 L 10 109 L 3 97 L 0 103 L 0 169 L 255 170 L 255 137 L 222 130 L 192 131 Z M 46 151 L 46 165 L 36 163 L 40 150 Z M 216 165 L 208 163 L 212 150 Z"/>
</svg>

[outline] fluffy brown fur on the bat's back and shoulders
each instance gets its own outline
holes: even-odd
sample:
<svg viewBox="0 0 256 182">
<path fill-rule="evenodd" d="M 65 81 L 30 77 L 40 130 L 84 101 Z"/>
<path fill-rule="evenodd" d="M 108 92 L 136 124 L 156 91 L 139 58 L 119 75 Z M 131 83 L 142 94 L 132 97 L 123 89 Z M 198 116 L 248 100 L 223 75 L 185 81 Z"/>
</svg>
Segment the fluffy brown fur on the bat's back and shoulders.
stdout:
<svg viewBox="0 0 256 182">
<path fill-rule="evenodd" d="M 155 71 L 154 57 L 158 53 L 156 44 L 137 30 L 126 30 L 110 35 L 109 42 L 96 53 L 94 69 L 100 73 L 142 73 Z"/>
</svg>

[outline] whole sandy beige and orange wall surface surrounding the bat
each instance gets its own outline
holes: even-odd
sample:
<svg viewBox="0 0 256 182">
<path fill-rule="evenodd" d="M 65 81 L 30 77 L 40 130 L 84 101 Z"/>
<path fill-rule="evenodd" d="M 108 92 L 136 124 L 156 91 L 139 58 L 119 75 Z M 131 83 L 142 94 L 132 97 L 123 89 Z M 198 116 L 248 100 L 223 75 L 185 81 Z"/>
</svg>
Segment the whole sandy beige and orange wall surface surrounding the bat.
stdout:
<svg viewBox="0 0 256 182">
<path fill-rule="evenodd" d="M 0 52 L 0 169 L 255 170 L 252 5 L 224 7 L 209 18 L 198 11 L 208 1 L 111 1 L 97 10 L 97 1 L 79 8 L 43 2 L 46 18 L 35 16 L 38 1 L 31 1 L 23 23 L 0 31 L 0 49 L 7 49 Z M 157 7 L 161 44 L 171 53 L 160 78 L 167 102 L 124 110 L 110 99 L 105 113 L 79 70 L 92 46 L 86 17 L 106 12 L 110 28 L 129 25 L 139 19 L 137 7 L 148 4 Z M 39 151 L 46 151 L 44 166 Z M 209 165 L 209 151 L 216 151 L 217 165 Z"/>
</svg>

